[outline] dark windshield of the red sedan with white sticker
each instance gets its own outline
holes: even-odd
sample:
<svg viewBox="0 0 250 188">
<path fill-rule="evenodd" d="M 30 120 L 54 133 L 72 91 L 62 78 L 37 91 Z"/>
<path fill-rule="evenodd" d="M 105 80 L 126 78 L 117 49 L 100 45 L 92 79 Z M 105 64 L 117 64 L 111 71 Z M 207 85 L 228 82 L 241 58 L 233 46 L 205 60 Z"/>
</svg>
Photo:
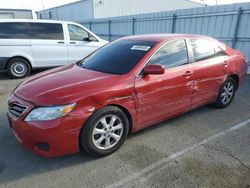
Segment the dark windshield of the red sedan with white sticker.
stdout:
<svg viewBox="0 0 250 188">
<path fill-rule="evenodd" d="M 108 74 L 126 74 L 155 44 L 154 41 L 114 41 L 82 60 L 79 66 Z"/>
</svg>

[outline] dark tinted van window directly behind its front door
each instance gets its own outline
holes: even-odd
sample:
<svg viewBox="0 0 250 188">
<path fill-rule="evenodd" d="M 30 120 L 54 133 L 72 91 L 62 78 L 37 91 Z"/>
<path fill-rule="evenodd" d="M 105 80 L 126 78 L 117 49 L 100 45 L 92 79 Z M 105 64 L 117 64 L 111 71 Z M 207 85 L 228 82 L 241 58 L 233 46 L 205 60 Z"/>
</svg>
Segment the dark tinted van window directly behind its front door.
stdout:
<svg viewBox="0 0 250 188">
<path fill-rule="evenodd" d="M 62 24 L 30 23 L 32 39 L 63 40 Z"/>
</svg>

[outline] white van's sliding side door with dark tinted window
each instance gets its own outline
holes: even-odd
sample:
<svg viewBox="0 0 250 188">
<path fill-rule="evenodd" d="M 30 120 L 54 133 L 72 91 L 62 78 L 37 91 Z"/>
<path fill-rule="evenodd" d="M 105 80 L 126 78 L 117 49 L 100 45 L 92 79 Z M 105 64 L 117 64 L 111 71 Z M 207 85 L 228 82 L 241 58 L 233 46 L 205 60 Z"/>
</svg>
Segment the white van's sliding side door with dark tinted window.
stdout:
<svg viewBox="0 0 250 188">
<path fill-rule="evenodd" d="M 67 44 L 61 23 L 29 23 L 35 67 L 68 63 Z"/>
</svg>

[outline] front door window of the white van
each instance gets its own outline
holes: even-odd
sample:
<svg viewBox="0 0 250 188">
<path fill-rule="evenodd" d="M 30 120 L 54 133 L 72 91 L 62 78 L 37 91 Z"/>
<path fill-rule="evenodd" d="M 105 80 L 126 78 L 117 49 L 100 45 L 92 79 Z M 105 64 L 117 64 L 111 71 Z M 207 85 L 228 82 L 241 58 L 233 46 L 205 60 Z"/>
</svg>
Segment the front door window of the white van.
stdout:
<svg viewBox="0 0 250 188">
<path fill-rule="evenodd" d="M 89 33 L 77 25 L 68 25 L 70 40 L 86 41 L 89 40 Z"/>
</svg>

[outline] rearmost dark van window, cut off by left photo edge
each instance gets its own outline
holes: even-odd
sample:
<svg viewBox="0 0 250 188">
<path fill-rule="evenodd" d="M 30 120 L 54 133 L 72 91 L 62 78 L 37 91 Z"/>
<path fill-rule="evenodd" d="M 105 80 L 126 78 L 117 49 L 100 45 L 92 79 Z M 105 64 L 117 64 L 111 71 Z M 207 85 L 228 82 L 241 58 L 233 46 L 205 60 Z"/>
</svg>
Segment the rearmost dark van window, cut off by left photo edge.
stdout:
<svg viewBox="0 0 250 188">
<path fill-rule="evenodd" d="M 1 39 L 28 39 L 29 28 L 27 23 L 0 23 Z"/>
</svg>

